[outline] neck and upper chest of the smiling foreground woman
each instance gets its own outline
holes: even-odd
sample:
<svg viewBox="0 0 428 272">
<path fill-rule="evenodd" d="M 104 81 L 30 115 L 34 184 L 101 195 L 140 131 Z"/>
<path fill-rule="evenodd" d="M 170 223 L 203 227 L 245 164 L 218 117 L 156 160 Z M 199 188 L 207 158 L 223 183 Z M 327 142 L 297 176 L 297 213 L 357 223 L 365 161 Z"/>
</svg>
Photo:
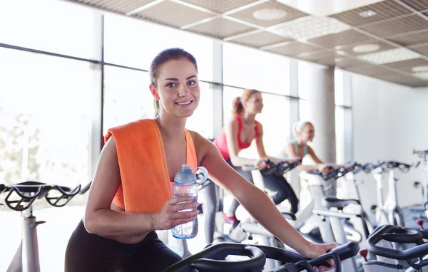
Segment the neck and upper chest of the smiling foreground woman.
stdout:
<svg viewBox="0 0 428 272">
<path fill-rule="evenodd" d="M 158 124 L 159 130 L 163 139 L 170 141 L 180 141 L 184 138 L 185 117 L 177 117 L 168 113 L 159 113 L 155 117 L 155 122 Z"/>
</svg>

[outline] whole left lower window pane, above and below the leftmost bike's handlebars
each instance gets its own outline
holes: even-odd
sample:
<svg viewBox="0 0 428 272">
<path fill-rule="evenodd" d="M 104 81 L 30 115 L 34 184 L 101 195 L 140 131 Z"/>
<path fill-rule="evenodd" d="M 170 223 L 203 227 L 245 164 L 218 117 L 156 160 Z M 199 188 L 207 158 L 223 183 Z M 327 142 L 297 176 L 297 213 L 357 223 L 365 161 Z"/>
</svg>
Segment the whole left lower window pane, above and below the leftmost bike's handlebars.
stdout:
<svg viewBox="0 0 428 272">
<path fill-rule="evenodd" d="M 0 48 L 0 59 L 1 183 L 86 184 L 91 179 L 90 63 L 8 48 Z M 50 205 L 44 199 L 36 202 L 34 214 L 47 221 L 37 228 L 41 270 L 61 271 L 84 199 L 61 209 L 45 209 Z M 21 219 L 9 209 L 0 209 L 0 218 L 7 222 L 0 225 L 7 234 L 1 239 L 0 271 L 6 271 L 21 241 Z"/>
</svg>

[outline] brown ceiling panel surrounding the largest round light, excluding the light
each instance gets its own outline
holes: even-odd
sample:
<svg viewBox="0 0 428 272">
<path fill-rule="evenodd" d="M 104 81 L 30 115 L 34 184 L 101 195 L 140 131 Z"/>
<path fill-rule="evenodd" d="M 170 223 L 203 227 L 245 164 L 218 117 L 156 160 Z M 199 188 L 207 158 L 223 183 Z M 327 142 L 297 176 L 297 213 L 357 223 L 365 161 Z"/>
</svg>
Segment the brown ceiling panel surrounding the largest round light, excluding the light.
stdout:
<svg viewBox="0 0 428 272">
<path fill-rule="evenodd" d="M 263 21 L 263 20 L 255 19 L 255 17 L 253 16 L 254 12 L 260 11 L 262 9 L 280 9 L 282 11 L 285 11 L 287 14 L 281 19 L 277 19 L 277 20 Z M 228 14 L 228 15 L 235 17 L 237 19 L 241 19 L 243 21 L 248 21 L 250 23 L 258 24 L 259 26 L 273 26 L 277 23 L 283 23 L 286 21 L 291 21 L 293 19 L 306 16 L 307 14 L 303 13 L 302 11 L 297 11 L 297 9 L 292 9 L 289 6 L 280 4 L 277 1 L 271 0 L 271 1 L 259 4 L 257 6 L 252 6 L 248 9 L 244 9 L 243 11 L 238 11 L 236 13 Z"/>
</svg>

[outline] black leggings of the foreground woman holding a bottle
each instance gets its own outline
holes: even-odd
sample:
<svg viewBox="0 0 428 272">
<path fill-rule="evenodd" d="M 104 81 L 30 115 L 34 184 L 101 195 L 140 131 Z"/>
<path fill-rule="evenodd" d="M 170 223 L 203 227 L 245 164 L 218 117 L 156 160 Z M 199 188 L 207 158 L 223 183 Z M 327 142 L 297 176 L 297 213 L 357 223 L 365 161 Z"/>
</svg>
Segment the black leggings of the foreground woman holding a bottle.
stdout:
<svg viewBox="0 0 428 272">
<path fill-rule="evenodd" d="M 80 221 L 68 241 L 65 272 L 163 271 L 182 258 L 168 249 L 155 231 L 137 244 L 122 244 L 89 234 Z"/>
</svg>

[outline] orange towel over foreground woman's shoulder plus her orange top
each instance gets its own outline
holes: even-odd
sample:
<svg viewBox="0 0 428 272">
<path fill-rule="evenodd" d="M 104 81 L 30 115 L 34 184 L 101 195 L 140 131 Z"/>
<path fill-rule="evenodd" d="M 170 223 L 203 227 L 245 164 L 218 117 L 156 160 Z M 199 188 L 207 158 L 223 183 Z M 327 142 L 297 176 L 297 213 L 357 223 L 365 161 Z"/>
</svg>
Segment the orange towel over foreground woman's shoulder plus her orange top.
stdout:
<svg viewBox="0 0 428 272">
<path fill-rule="evenodd" d="M 155 212 L 173 197 L 161 131 L 153 119 L 143 119 L 108 130 L 105 140 L 116 141 L 122 183 L 113 203 L 128 212 Z M 195 146 L 185 130 L 186 163 L 198 167 Z"/>
</svg>

